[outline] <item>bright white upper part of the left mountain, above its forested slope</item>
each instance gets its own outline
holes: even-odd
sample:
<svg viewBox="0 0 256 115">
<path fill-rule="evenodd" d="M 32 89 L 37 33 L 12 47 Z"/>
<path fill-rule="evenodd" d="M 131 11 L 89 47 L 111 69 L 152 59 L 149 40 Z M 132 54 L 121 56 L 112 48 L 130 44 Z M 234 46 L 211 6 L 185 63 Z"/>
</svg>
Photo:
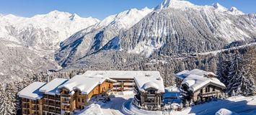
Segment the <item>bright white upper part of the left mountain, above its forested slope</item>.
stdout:
<svg viewBox="0 0 256 115">
<path fill-rule="evenodd" d="M 77 14 L 58 11 L 31 18 L 8 14 L 0 16 L 0 38 L 37 50 L 56 50 L 59 42 L 97 22 L 100 22 L 99 19 L 81 18 Z"/>
</svg>

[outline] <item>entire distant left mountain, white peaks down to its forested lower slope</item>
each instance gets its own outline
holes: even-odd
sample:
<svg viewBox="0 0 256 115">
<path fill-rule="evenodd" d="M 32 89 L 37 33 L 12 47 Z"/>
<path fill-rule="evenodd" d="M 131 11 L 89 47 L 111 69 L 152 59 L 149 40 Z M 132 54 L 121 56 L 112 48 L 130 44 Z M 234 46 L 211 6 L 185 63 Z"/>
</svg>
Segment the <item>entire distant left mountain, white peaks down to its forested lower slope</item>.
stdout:
<svg viewBox="0 0 256 115">
<path fill-rule="evenodd" d="M 27 73 L 57 69 L 53 52 L 60 42 L 97 22 L 99 19 L 58 11 L 31 18 L 0 15 L 0 77 L 17 79 Z"/>
</svg>

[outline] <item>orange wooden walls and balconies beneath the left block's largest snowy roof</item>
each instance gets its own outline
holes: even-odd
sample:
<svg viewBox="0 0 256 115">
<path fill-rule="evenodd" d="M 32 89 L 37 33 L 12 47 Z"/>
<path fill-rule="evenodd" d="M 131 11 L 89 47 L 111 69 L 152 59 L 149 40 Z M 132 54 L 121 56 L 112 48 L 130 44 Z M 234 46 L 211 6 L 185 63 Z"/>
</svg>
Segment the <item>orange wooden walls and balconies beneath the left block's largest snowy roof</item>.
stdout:
<svg viewBox="0 0 256 115">
<path fill-rule="evenodd" d="M 69 115 L 74 111 L 80 111 L 81 109 L 84 109 L 85 106 L 90 104 L 89 101 L 94 96 L 110 95 L 113 88 L 113 83 L 113 80 L 104 80 L 102 83 L 94 86 L 92 91 L 89 91 L 88 93 L 84 93 L 79 89 L 74 89 L 71 91 L 65 87 L 59 88 L 61 92 L 61 114 Z"/>
</svg>

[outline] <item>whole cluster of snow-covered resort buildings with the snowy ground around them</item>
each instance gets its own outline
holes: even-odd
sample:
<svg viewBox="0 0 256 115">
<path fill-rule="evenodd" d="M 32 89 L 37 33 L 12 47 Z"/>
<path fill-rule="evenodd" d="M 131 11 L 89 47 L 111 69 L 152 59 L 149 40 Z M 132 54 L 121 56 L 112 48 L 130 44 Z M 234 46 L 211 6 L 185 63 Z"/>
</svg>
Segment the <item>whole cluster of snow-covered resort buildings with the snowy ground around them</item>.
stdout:
<svg viewBox="0 0 256 115">
<path fill-rule="evenodd" d="M 158 71 L 87 70 L 69 80 L 34 82 L 18 96 L 25 115 L 256 114 L 255 97 L 229 98 L 212 72 L 183 70 L 175 78 L 165 88 Z"/>
</svg>

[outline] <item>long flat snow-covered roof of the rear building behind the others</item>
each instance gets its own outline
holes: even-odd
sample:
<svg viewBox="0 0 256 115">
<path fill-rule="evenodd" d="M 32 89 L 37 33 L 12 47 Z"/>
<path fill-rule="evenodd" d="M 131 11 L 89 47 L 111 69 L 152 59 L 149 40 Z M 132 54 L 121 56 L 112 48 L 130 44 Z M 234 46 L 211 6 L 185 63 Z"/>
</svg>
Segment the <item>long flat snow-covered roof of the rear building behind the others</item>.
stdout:
<svg viewBox="0 0 256 115">
<path fill-rule="evenodd" d="M 139 71 L 139 70 L 87 70 L 86 75 L 102 75 L 107 78 L 131 78 L 144 77 L 145 75 L 159 75 L 158 71 Z"/>
</svg>

